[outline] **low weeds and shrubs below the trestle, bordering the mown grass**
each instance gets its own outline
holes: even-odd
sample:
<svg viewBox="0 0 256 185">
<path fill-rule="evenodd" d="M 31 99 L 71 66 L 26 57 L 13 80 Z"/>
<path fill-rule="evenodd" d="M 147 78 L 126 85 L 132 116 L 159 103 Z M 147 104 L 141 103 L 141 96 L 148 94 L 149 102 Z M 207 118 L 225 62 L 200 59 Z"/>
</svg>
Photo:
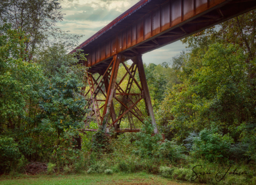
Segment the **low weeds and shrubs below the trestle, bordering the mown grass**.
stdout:
<svg viewBox="0 0 256 185">
<path fill-rule="evenodd" d="M 59 158 L 56 157 L 59 155 L 54 155 L 54 160 L 48 162 L 44 173 L 112 175 L 145 172 L 178 182 L 230 185 L 256 183 L 254 161 L 207 160 L 204 155 L 185 155 L 188 153 L 185 146 L 175 141 L 162 142 L 160 134 L 152 136 L 152 129 L 152 125 L 146 121 L 140 133 L 126 133 L 112 138 L 105 137 L 102 132 L 91 135 L 91 139 L 84 139 L 86 142 L 82 143 L 87 145 L 92 141 L 90 150 L 88 147 L 75 150 L 72 161 L 64 166 L 61 165 L 64 163 L 58 163 Z M 193 147 L 190 147 L 191 150 Z"/>
</svg>

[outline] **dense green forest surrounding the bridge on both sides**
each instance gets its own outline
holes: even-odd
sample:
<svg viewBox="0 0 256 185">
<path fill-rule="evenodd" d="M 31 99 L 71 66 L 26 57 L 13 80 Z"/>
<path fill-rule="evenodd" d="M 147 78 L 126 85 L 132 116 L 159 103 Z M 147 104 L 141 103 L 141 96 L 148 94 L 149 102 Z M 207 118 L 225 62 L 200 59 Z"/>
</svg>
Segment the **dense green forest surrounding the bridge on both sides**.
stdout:
<svg viewBox="0 0 256 185">
<path fill-rule="evenodd" d="M 196 179 L 192 168 L 217 174 L 231 165 L 245 175 L 220 184 L 256 183 L 255 10 L 182 39 L 187 51 L 172 61 L 144 64 L 160 134 L 152 135 L 148 117 L 135 122 L 140 133 L 109 138 L 100 129 L 79 131 L 86 54 L 68 51 L 81 36 L 56 28 L 63 20 L 57 1 L 37 2 L 0 2 L 1 173 L 27 173 L 40 163 L 48 174 L 145 171 L 216 184 L 221 176 Z"/>
</svg>

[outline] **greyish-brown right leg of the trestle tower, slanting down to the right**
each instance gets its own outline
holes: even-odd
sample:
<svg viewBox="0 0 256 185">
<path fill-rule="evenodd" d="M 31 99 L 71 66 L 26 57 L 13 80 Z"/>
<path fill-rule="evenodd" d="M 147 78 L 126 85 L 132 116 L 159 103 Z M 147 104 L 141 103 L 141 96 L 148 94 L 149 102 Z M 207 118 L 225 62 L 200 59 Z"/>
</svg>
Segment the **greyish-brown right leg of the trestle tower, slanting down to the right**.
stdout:
<svg viewBox="0 0 256 185">
<path fill-rule="evenodd" d="M 153 106 L 151 103 L 151 98 L 150 98 L 150 94 L 149 94 L 149 90 L 148 90 L 148 84 L 147 84 L 147 79 L 146 79 L 141 55 L 137 55 L 137 56 L 133 57 L 132 61 L 134 63 L 136 63 L 137 67 L 138 67 L 140 83 L 141 83 L 141 87 L 142 87 L 143 93 L 144 93 L 144 100 L 145 100 L 146 108 L 147 108 L 149 116 L 151 116 L 152 125 L 154 126 L 154 133 L 156 134 L 156 133 L 158 133 L 157 126 L 156 126 L 156 119 L 155 119 L 154 112 L 153 112 Z"/>
</svg>

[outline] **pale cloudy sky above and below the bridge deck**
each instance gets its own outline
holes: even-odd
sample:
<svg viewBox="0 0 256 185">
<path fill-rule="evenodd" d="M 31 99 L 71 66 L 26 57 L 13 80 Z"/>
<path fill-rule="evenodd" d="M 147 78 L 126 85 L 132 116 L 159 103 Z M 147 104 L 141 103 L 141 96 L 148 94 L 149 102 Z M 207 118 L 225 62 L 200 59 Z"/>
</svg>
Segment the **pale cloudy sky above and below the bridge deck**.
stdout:
<svg viewBox="0 0 256 185">
<path fill-rule="evenodd" d="M 140 0 L 60 0 L 64 20 L 57 24 L 71 34 L 84 35 L 79 44 L 96 34 Z M 143 55 L 146 64 L 172 63 L 172 57 L 186 51 L 180 40 Z"/>
</svg>

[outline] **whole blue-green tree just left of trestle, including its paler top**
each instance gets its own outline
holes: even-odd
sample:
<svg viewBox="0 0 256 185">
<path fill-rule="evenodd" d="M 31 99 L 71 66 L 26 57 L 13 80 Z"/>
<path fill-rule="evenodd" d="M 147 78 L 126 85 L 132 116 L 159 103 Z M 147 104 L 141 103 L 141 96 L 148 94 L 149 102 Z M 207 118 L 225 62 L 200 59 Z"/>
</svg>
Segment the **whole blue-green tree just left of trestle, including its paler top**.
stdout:
<svg viewBox="0 0 256 185">
<path fill-rule="evenodd" d="M 81 93 L 82 87 L 86 85 L 83 77 L 87 68 L 80 65 L 79 60 L 75 58 L 78 56 L 79 59 L 85 60 L 84 55 L 67 55 L 65 51 L 62 44 L 54 44 L 44 50 L 38 60 L 48 78 L 43 91 L 40 92 L 42 122 L 43 125 L 56 130 L 58 139 L 64 130 L 83 128 L 82 120 L 86 113 L 86 101 Z"/>
</svg>

